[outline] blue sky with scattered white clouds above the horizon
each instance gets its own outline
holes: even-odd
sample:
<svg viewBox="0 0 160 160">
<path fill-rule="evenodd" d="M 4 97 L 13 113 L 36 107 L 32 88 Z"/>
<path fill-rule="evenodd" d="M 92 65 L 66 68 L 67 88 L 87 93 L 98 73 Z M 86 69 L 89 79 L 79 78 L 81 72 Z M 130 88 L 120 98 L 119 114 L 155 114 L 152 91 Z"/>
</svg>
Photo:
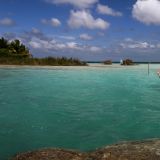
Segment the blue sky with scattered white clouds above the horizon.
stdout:
<svg viewBox="0 0 160 160">
<path fill-rule="evenodd" d="M 34 57 L 160 61 L 160 1 L 0 0 L 0 37 Z"/>
</svg>

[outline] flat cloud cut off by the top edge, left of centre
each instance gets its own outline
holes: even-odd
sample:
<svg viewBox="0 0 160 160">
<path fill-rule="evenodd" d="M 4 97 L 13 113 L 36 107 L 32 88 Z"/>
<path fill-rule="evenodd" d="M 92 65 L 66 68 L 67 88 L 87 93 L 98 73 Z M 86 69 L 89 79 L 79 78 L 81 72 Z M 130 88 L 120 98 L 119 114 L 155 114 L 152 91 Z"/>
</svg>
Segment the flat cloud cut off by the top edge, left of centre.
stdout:
<svg viewBox="0 0 160 160">
<path fill-rule="evenodd" d="M 45 0 L 53 4 L 70 4 L 78 8 L 90 8 L 98 0 Z"/>
</svg>

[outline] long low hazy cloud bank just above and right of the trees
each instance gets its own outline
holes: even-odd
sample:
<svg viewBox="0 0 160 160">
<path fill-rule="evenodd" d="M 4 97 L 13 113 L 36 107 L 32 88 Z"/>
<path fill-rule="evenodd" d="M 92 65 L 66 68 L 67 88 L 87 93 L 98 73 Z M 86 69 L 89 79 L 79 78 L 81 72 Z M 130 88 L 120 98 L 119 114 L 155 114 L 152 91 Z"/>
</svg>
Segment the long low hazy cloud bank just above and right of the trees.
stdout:
<svg viewBox="0 0 160 160">
<path fill-rule="evenodd" d="M 104 48 L 101 46 L 81 44 L 76 40 L 61 39 L 56 35 L 46 35 L 37 28 L 32 28 L 31 31 L 25 31 L 19 35 L 2 34 L 8 40 L 19 39 L 28 48 L 31 53 L 36 56 L 36 53 L 47 53 L 49 55 L 69 55 L 74 54 L 92 54 L 103 53 Z M 67 37 L 67 36 L 65 36 Z"/>
</svg>

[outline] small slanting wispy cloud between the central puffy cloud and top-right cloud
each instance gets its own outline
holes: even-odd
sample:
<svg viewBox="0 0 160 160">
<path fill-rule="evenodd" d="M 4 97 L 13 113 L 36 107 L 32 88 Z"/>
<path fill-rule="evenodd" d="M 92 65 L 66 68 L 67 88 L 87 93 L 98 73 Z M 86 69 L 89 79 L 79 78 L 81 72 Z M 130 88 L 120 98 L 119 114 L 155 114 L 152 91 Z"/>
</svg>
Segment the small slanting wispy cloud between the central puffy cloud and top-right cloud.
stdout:
<svg viewBox="0 0 160 160">
<path fill-rule="evenodd" d="M 122 16 L 122 13 L 119 11 L 115 11 L 112 8 L 108 7 L 107 5 L 98 4 L 97 11 L 100 14 L 106 14 L 110 16 Z"/>
</svg>

